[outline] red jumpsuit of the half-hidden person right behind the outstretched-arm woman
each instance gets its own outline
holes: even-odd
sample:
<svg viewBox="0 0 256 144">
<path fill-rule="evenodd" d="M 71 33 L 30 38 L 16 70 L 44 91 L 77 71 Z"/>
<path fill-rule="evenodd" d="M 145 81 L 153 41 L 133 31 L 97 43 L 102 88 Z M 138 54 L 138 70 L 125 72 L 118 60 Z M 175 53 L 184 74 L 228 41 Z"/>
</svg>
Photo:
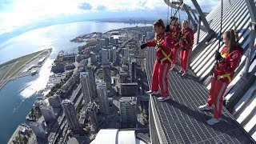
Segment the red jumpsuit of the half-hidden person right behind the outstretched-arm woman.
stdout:
<svg viewBox="0 0 256 144">
<path fill-rule="evenodd" d="M 180 28 L 179 26 L 177 26 L 176 28 L 170 28 L 170 34 L 171 34 L 171 60 L 173 61 L 174 64 L 177 63 L 177 52 L 178 52 L 178 48 L 179 48 L 179 32 L 180 32 Z"/>
</svg>

